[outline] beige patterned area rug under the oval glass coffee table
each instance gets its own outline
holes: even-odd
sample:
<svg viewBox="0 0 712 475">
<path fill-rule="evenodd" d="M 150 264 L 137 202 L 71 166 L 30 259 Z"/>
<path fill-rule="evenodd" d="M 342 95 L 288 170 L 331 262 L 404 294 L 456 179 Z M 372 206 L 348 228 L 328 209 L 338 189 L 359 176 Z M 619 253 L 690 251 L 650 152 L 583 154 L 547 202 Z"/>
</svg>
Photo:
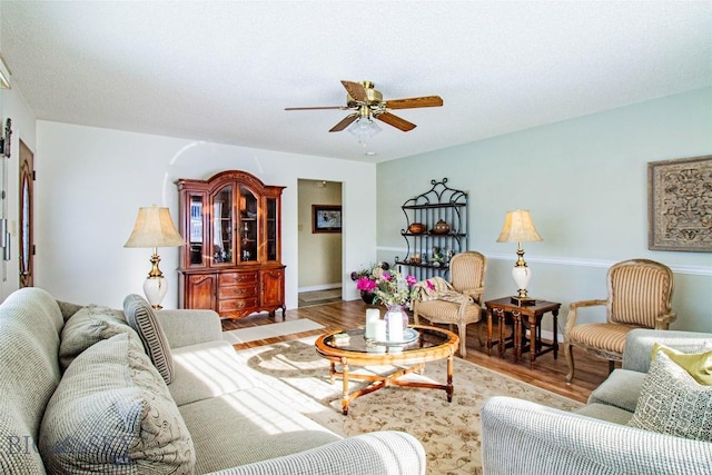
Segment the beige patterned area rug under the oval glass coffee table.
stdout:
<svg viewBox="0 0 712 475">
<path fill-rule="evenodd" d="M 455 358 L 453 402 L 444 390 L 386 387 L 352 402 L 340 412 L 342 382 L 329 383 L 326 359 L 314 349 L 315 337 L 238 352 L 248 366 L 265 376 L 298 410 L 348 437 L 374 431 L 404 431 L 423 443 L 428 474 L 481 474 L 479 409 L 491 396 L 505 395 L 573 410 L 581 403 L 540 389 L 487 368 Z M 406 377 L 445 380 L 445 360 L 426 364 L 423 375 Z M 355 368 L 352 368 L 354 370 Z M 360 370 L 389 373 L 393 367 Z M 353 388 L 365 382 L 349 382 Z"/>
</svg>

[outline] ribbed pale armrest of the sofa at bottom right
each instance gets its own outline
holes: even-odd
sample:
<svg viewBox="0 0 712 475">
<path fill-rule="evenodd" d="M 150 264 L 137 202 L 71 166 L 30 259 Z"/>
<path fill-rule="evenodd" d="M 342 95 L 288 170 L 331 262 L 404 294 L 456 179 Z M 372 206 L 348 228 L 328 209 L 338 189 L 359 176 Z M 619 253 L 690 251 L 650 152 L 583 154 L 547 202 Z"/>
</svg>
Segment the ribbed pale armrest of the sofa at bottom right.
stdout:
<svg viewBox="0 0 712 475">
<path fill-rule="evenodd" d="M 482 407 L 484 473 L 709 474 L 712 444 L 497 396 Z"/>
</svg>

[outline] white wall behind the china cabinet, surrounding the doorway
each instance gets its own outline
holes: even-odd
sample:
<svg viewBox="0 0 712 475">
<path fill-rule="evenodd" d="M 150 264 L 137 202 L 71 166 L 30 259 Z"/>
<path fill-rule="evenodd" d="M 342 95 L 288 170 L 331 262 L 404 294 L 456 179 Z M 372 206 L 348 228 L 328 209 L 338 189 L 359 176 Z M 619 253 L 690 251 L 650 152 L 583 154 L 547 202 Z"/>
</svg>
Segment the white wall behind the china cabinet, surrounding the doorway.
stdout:
<svg viewBox="0 0 712 475">
<path fill-rule="evenodd" d="M 50 121 L 37 125 L 36 285 L 75 303 L 120 306 L 141 294 L 150 249 L 127 249 L 139 207 L 168 206 L 177 221 L 178 178 L 227 169 L 254 174 L 283 195 L 283 261 L 287 308 L 297 307 L 297 180 L 343 182 L 344 298 L 358 295 L 350 268 L 375 259 L 376 167 L 344 160 L 196 142 Z M 164 306 L 177 306 L 178 250 L 159 249 L 170 279 Z"/>
</svg>

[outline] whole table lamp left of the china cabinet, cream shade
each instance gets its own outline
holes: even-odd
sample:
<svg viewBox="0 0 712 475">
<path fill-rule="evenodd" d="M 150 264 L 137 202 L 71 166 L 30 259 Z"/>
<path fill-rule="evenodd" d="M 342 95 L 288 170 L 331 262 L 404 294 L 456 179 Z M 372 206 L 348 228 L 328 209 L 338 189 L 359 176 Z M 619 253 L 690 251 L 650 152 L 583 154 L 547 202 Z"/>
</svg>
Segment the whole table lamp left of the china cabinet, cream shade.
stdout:
<svg viewBox="0 0 712 475">
<path fill-rule="evenodd" d="M 164 273 L 158 268 L 160 257 L 159 247 L 177 247 L 185 244 L 180 237 L 174 221 L 170 219 L 168 208 L 159 208 L 156 205 L 150 208 L 139 208 L 136 224 L 129 240 L 123 247 L 152 247 L 151 270 L 144 281 L 144 294 L 151 307 L 161 309 L 160 303 L 168 291 L 168 283 L 164 278 Z"/>
</svg>

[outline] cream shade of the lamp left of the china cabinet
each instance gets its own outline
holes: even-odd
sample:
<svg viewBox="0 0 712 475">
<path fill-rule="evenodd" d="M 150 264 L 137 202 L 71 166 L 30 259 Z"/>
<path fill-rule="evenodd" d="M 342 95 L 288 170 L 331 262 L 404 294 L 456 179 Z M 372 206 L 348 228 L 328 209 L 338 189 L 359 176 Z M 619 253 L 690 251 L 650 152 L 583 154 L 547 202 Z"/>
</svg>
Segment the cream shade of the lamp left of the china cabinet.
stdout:
<svg viewBox="0 0 712 475">
<path fill-rule="evenodd" d="M 154 205 L 150 208 L 138 209 L 134 230 L 123 247 L 176 247 L 184 244 L 170 219 L 168 208 Z"/>
</svg>

